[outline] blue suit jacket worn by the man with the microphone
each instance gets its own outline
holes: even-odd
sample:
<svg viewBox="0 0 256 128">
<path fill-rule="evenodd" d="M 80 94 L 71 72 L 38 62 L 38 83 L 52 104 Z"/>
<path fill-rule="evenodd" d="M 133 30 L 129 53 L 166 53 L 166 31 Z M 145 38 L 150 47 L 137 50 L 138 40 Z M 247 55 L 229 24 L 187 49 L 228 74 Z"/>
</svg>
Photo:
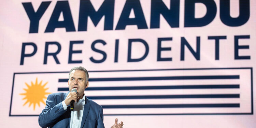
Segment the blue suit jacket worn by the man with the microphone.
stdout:
<svg viewBox="0 0 256 128">
<path fill-rule="evenodd" d="M 70 105 L 66 110 L 62 106 L 62 101 L 67 95 L 68 93 L 53 93 L 47 97 L 45 109 L 38 117 L 41 127 L 70 127 Z M 102 106 L 86 97 L 81 128 L 104 128 Z"/>
</svg>

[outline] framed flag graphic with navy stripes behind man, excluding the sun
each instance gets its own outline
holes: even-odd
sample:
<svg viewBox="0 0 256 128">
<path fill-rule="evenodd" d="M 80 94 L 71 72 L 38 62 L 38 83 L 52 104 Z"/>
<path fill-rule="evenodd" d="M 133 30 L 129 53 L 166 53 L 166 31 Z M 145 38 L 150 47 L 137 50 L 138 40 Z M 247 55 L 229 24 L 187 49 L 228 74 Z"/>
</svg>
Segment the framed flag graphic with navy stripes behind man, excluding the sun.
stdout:
<svg viewBox="0 0 256 128">
<path fill-rule="evenodd" d="M 69 91 L 68 72 L 14 75 L 11 115 L 45 106 L 23 106 L 25 81 L 48 82 L 47 93 Z M 104 115 L 251 114 L 252 68 L 89 71 L 85 95 Z"/>
</svg>

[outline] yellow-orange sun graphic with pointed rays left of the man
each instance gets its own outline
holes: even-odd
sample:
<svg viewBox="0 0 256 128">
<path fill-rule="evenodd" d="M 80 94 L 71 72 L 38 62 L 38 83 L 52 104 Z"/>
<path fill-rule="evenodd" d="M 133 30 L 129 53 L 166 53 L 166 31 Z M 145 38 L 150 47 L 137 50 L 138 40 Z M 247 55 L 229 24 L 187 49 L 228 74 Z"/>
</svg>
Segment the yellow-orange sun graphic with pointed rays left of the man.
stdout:
<svg viewBox="0 0 256 128">
<path fill-rule="evenodd" d="M 28 88 L 27 89 L 23 88 L 23 89 L 26 91 L 26 93 L 19 94 L 19 95 L 26 96 L 25 98 L 22 99 L 22 100 L 27 100 L 23 104 L 23 106 L 29 102 L 29 107 L 31 106 L 31 104 L 33 104 L 34 110 L 35 110 L 35 105 L 38 104 L 38 106 L 40 107 L 40 102 L 42 102 L 44 105 L 46 105 L 45 102 L 43 101 L 43 99 L 46 99 L 45 95 L 51 94 L 51 93 L 45 92 L 47 89 L 49 89 L 49 88 L 44 88 L 47 83 L 48 82 L 46 82 L 42 85 L 42 81 L 40 83 L 38 83 L 37 79 L 36 79 L 35 83 L 33 83 L 31 81 L 31 86 L 30 86 L 25 82 L 25 84 L 27 85 Z"/>
</svg>

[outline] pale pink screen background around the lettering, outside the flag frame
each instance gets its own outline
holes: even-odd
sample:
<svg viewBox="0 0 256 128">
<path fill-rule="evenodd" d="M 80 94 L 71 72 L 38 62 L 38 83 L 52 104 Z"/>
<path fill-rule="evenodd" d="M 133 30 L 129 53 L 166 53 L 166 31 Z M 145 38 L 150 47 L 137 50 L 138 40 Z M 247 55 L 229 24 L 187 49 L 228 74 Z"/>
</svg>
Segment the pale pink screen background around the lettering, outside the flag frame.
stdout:
<svg viewBox="0 0 256 128">
<path fill-rule="evenodd" d="M 163 0 L 168 8 L 170 1 Z M 38 9 L 42 1 L 40 0 L 3 0 L 0 8 L 0 68 L 2 71 L 1 81 L 1 127 L 40 127 L 38 116 L 9 116 L 12 96 L 13 75 L 18 72 L 59 72 L 69 71 L 72 67 L 83 66 L 88 71 L 103 70 L 140 70 L 140 69 L 186 69 L 186 68 L 242 68 L 252 67 L 255 72 L 255 47 L 256 47 L 256 1 L 250 1 L 250 18 L 242 26 L 230 27 L 221 22 L 219 18 L 219 0 L 214 0 L 217 5 L 217 13 L 214 20 L 203 27 L 184 27 L 184 0 L 180 0 L 180 27 L 171 28 L 166 20 L 160 16 L 160 28 L 158 29 L 138 29 L 136 25 L 128 25 L 125 30 L 103 31 L 104 18 L 95 27 L 88 18 L 87 31 L 77 31 L 79 17 L 79 0 L 69 1 L 73 22 L 76 32 L 66 32 L 65 28 L 57 28 L 54 32 L 44 33 L 49 18 L 56 5 L 56 0 L 52 1 L 39 22 L 38 33 L 29 33 L 30 20 L 22 6 L 23 2 L 32 2 L 35 10 Z M 230 0 L 230 15 L 239 16 L 239 0 Z M 96 10 L 99 9 L 103 0 L 91 1 Z M 150 27 L 150 0 L 140 0 L 147 26 Z M 114 29 L 119 16 L 123 10 L 125 0 L 116 0 L 114 8 Z M 206 13 L 204 4 L 196 4 L 196 17 L 203 17 Z M 134 17 L 133 12 L 130 18 Z M 62 20 L 62 15 L 59 20 Z M 215 41 L 208 40 L 208 36 L 226 35 L 226 40 L 220 40 L 219 60 L 215 60 Z M 240 39 L 239 45 L 249 45 L 250 49 L 239 50 L 239 55 L 251 56 L 248 60 L 234 60 L 234 35 L 250 35 L 250 39 Z M 185 37 L 189 44 L 196 49 L 196 37 L 200 36 L 200 60 L 185 48 L 185 60 L 180 60 L 181 37 Z M 172 41 L 164 41 L 162 47 L 172 47 L 171 51 L 161 53 L 162 57 L 172 57 L 172 61 L 157 61 L 157 39 L 172 37 Z M 147 57 L 140 62 L 127 62 L 128 39 L 140 38 L 149 45 Z M 96 47 L 106 52 L 107 58 L 102 63 L 93 63 L 89 60 L 91 56 L 101 59 L 102 55 L 92 51 L 91 43 L 95 40 L 104 40 L 107 44 L 97 44 Z M 119 39 L 118 62 L 114 63 L 115 40 Z M 81 54 L 73 54 L 73 60 L 82 60 L 81 64 L 68 64 L 69 42 L 83 40 L 83 44 L 75 44 L 73 50 L 82 50 Z M 53 57 L 48 57 L 47 65 L 43 65 L 45 42 L 57 41 L 61 44 L 61 51 L 57 55 L 60 64 L 56 64 Z M 32 57 L 25 57 L 24 65 L 20 65 L 20 56 L 23 42 L 34 42 L 37 53 Z M 55 52 L 56 46 L 49 46 L 49 52 Z M 26 47 L 25 53 L 31 53 L 32 47 Z M 145 48 L 141 44 L 132 45 L 132 58 L 143 55 Z M 225 72 L 224 72 L 225 73 Z M 227 72 L 229 73 L 229 72 Z M 96 74 L 97 76 L 98 74 Z M 100 74 L 99 74 L 100 75 Z M 130 76 L 132 74 L 127 74 Z M 163 74 L 165 75 L 165 74 Z M 63 75 L 64 76 L 64 75 Z M 25 77 L 25 76 L 24 76 Z M 44 76 L 45 78 L 47 76 Z M 66 76 L 65 76 L 66 77 Z M 251 77 L 248 75 L 247 77 Z M 31 79 L 30 79 L 31 78 Z M 27 76 L 28 82 L 34 81 L 34 76 Z M 256 81 L 255 75 L 253 81 Z M 21 82 L 22 83 L 22 82 Z M 134 83 L 129 83 L 133 85 Z M 18 84 L 17 84 L 18 86 Z M 24 84 L 20 84 L 24 86 Z M 49 85 L 52 86 L 52 85 Z M 55 85 L 54 85 L 55 86 Z M 65 86 L 65 84 L 63 85 Z M 93 85 L 90 85 L 93 86 Z M 15 85 L 16 87 L 16 85 Z M 24 86 L 25 87 L 25 86 Z M 50 87 L 51 88 L 51 87 Z M 50 89 L 51 90 L 51 89 Z M 52 93 L 54 93 L 52 89 Z M 241 93 L 244 90 L 241 90 Z M 57 91 L 56 91 L 57 92 Z M 255 92 L 255 87 L 253 88 Z M 154 92 L 152 92 L 154 93 Z M 248 92 L 249 93 L 249 92 Z M 17 95 L 18 93 L 13 94 Z M 22 96 L 20 96 L 22 97 Z M 255 93 L 253 103 L 256 102 Z M 16 104 L 23 104 L 23 100 L 15 100 Z M 43 104 L 42 104 L 43 105 Z M 251 104 L 248 104 L 251 106 Z M 24 106 L 26 107 L 26 106 Z M 254 110 L 255 110 L 254 105 Z M 22 110 L 23 108 L 20 108 Z M 30 108 L 31 109 L 31 108 Z M 31 111 L 33 111 L 31 109 Z M 114 119 L 122 120 L 124 128 L 169 128 L 169 127 L 232 127 L 232 128 L 252 128 L 256 126 L 255 114 L 249 115 L 130 115 L 130 116 L 104 116 L 105 127 L 110 127 Z"/>
</svg>

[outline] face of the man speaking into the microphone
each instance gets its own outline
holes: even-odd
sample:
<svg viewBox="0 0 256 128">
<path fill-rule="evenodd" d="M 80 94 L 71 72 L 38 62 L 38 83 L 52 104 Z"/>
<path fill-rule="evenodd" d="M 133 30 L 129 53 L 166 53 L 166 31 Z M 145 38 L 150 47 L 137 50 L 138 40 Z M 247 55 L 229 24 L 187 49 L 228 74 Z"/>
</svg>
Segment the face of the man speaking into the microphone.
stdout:
<svg viewBox="0 0 256 128">
<path fill-rule="evenodd" d="M 77 90 L 77 96 L 81 98 L 84 94 L 85 88 L 87 88 L 89 85 L 89 82 L 88 81 L 86 82 L 85 72 L 81 70 L 73 70 L 70 73 L 69 77 L 70 77 L 68 82 L 69 91 L 71 92 L 71 90 L 75 88 Z"/>
</svg>

